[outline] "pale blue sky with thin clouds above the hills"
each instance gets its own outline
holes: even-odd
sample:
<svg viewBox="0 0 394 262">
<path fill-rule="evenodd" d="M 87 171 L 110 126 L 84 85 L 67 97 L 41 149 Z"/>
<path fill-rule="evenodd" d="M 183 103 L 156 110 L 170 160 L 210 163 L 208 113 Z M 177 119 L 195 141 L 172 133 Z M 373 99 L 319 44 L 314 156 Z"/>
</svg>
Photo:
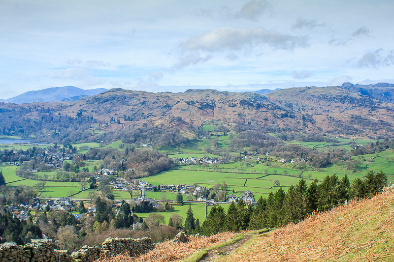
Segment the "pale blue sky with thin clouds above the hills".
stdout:
<svg viewBox="0 0 394 262">
<path fill-rule="evenodd" d="M 394 83 L 393 0 L 1 0 L 0 98 Z"/>
</svg>

